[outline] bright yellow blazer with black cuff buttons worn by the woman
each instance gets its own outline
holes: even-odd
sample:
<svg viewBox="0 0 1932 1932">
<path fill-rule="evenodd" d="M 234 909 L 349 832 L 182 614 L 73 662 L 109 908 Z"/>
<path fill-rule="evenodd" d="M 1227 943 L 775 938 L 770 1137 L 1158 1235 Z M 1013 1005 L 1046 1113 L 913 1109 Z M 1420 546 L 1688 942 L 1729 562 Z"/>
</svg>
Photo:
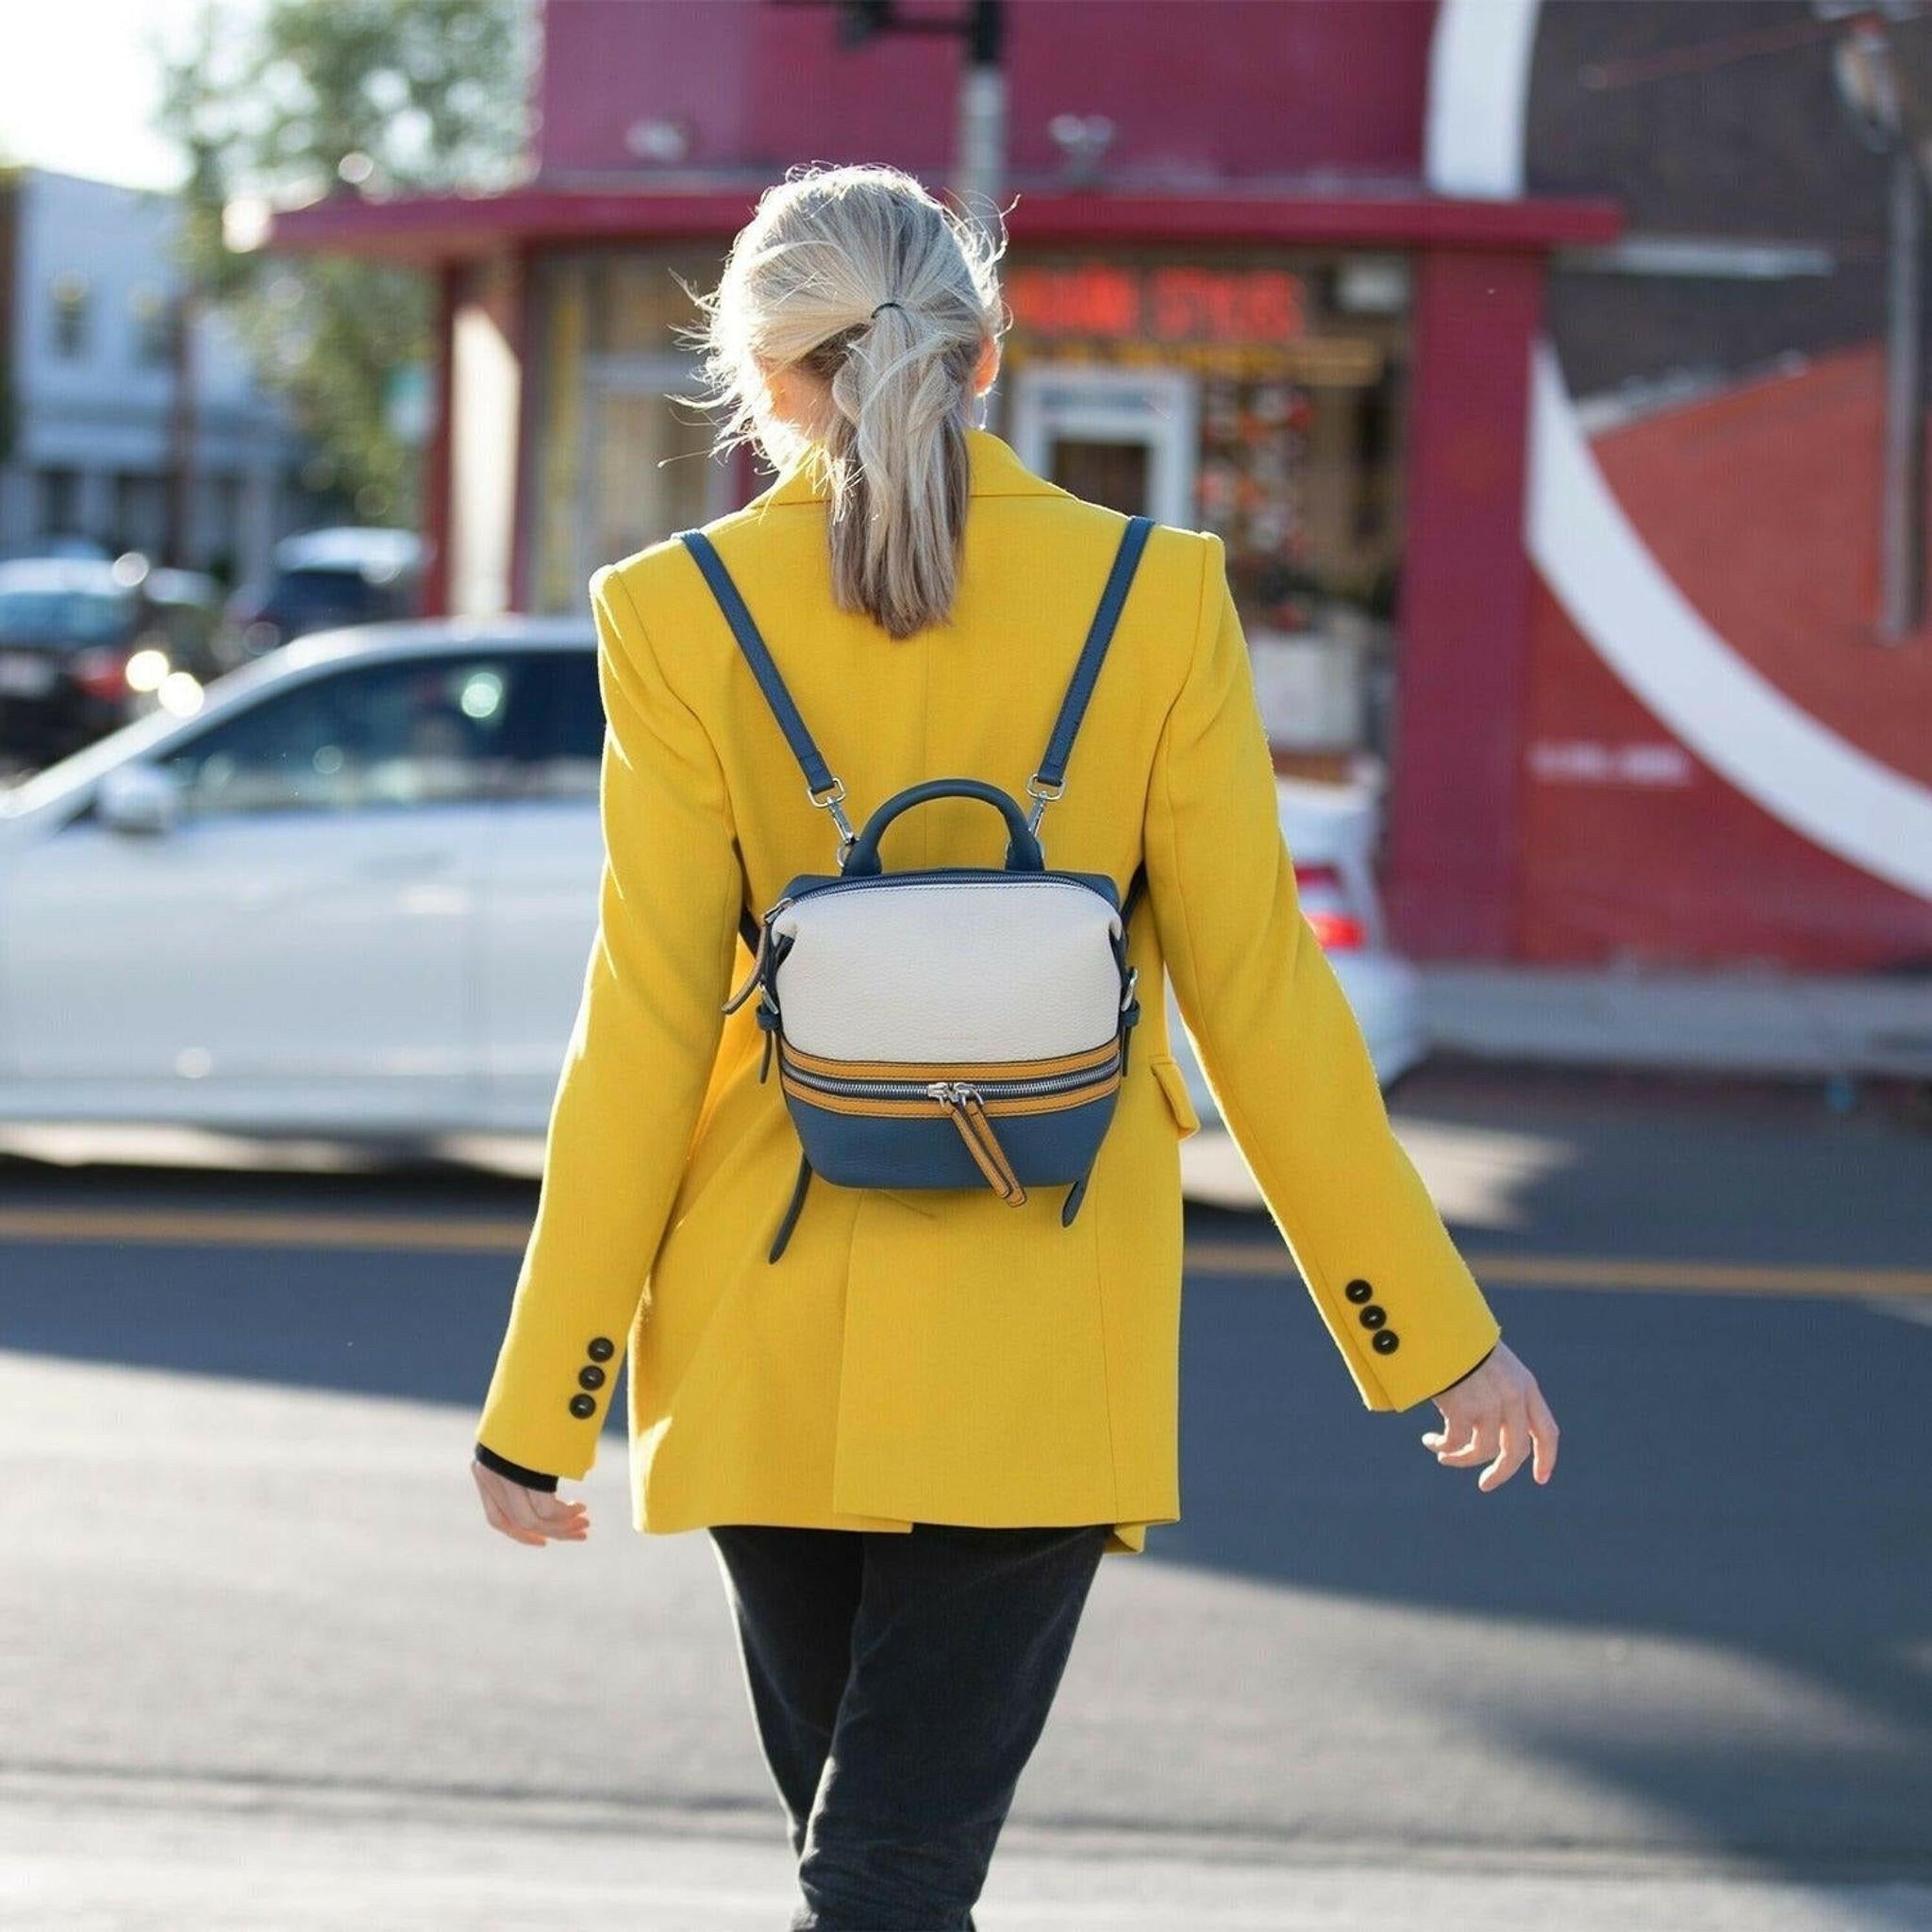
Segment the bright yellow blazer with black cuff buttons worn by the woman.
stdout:
<svg viewBox="0 0 1932 1932">
<path fill-rule="evenodd" d="M 1022 792 L 1124 518 L 970 431 L 949 624 L 893 641 L 833 605 L 827 506 L 794 464 L 705 526 L 854 823 L 922 779 Z M 1389 1132 L 1374 1066 L 1296 904 L 1221 539 L 1157 526 L 1041 837 L 1051 866 L 1146 856 L 1142 1020 L 1072 1227 L 1061 1190 L 815 1180 L 767 1264 L 798 1140 L 757 1080 L 738 912 L 837 835 L 676 539 L 589 580 L 609 730 L 599 929 L 556 1084 L 535 1225 L 477 1441 L 580 1478 L 630 1368 L 638 1530 L 1109 1522 L 1180 1513 L 1179 1140 L 1171 976 L 1208 1082 L 1370 1408 L 1468 1372 L 1495 1316 Z M 997 813 L 898 819 L 887 869 L 997 866 Z"/>
</svg>

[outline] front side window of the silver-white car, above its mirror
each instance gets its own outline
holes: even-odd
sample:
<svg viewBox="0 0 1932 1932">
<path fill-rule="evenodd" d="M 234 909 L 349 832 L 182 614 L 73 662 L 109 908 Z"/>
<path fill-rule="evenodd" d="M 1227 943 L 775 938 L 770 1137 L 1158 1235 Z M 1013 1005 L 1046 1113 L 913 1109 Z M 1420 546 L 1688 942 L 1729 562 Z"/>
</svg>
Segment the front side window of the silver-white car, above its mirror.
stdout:
<svg viewBox="0 0 1932 1932">
<path fill-rule="evenodd" d="M 162 759 L 189 815 L 357 811 L 487 796 L 508 763 L 510 653 L 307 678 Z"/>
</svg>

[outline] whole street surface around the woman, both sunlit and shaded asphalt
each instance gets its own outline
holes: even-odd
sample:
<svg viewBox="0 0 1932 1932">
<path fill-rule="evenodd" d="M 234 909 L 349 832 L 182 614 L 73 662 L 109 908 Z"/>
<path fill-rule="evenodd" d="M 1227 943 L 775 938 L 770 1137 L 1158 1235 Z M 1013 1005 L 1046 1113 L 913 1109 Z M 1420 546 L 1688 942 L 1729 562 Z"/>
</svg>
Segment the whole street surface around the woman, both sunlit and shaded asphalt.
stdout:
<svg viewBox="0 0 1932 1932">
<path fill-rule="evenodd" d="M 1397 1115 L 1555 1482 L 1437 1468 L 1267 1221 L 1196 1211 L 1182 1520 L 1101 1569 L 983 1932 L 1932 1928 L 1924 1121 L 1476 1072 Z M 0 1928 L 777 1932 L 707 1540 L 632 1532 L 620 1426 L 587 1544 L 475 1501 L 527 1182 L 12 1146 Z"/>
</svg>

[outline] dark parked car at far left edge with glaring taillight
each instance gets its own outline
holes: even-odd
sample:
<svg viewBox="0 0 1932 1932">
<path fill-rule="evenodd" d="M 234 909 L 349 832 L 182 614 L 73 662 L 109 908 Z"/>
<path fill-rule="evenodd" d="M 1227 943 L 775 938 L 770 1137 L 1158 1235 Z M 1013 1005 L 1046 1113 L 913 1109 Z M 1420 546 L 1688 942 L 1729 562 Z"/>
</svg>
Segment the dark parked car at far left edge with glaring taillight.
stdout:
<svg viewBox="0 0 1932 1932">
<path fill-rule="evenodd" d="M 214 674 L 220 589 L 191 570 L 39 556 L 0 564 L 0 753 L 44 763 Z"/>
</svg>

